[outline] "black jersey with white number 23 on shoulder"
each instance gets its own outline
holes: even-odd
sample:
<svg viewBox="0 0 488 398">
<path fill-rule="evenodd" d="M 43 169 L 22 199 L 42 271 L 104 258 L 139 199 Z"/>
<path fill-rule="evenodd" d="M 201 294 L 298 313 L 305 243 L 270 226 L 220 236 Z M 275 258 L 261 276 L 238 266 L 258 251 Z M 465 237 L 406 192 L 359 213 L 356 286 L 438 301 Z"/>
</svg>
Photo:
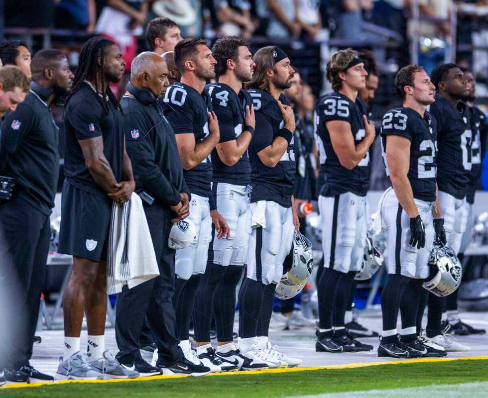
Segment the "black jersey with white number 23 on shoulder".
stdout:
<svg viewBox="0 0 488 398">
<path fill-rule="evenodd" d="M 422 117 L 411 108 L 391 109 L 385 113 L 381 123 L 383 154 L 386 153 L 386 136 L 391 134 L 410 140 L 410 168 L 407 177 L 412 186 L 413 197 L 428 202 L 435 201 L 437 184 L 436 120 L 427 111 Z M 386 175 L 389 177 L 386 156 L 384 156 L 384 165 Z"/>
</svg>

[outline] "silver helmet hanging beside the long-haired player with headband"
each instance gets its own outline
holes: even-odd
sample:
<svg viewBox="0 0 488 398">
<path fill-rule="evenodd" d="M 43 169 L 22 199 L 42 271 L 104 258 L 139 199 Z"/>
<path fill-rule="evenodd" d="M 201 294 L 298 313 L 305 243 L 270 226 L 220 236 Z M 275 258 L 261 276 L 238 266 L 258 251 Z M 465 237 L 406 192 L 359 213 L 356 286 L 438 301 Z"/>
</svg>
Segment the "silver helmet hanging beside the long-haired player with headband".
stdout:
<svg viewBox="0 0 488 398">
<path fill-rule="evenodd" d="M 291 268 L 281 277 L 274 293 L 282 300 L 295 297 L 304 288 L 313 270 L 312 244 L 300 232 L 295 232 L 291 254 L 293 256 Z"/>
</svg>

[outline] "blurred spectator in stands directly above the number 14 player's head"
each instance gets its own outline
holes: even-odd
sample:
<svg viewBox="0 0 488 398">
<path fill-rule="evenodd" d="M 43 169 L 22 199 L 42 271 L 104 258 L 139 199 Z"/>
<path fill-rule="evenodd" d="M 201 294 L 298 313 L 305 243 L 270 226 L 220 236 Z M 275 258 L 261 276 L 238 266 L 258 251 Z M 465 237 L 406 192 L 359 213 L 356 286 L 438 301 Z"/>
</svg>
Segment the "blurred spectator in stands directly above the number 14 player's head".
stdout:
<svg viewBox="0 0 488 398">
<path fill-rule="evenodd" d="M 257 24 L 251 19 L 248 0 L 214 0 L 220 32 L 224 35 L 251 37 Z"/>
</svg>

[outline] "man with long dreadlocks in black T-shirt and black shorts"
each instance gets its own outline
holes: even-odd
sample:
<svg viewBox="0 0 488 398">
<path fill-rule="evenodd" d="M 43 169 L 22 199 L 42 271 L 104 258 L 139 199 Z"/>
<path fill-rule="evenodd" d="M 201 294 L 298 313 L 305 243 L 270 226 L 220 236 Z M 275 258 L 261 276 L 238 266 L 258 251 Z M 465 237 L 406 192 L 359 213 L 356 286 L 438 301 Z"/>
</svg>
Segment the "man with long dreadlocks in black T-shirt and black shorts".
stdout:
<svg viewBox="0 0 488 398">
<path fill-rule="evenodd" d="M 106 361 L 107 369 L 121 368 L 114 367 L 117 362 L 104 352 L 104 333 L 112 205 L 130 200 L 135 188 L 125 152 L 122 109 L 109 88 L 121 80 L 124 67 L 120 47 L 113 41 L 88 40 L 64 112 L 66 179 L 58 251 L 73 255 L 73 272 L 63 296 L 65 354 L 58 366 L 58 374 L 65 378 L 96 378 L 104 373 L 103 366 L 97 368 L 100 373 L 88 366 L 79 351 L 85 311 L 89 360 L 97 366 Z"/>
</svg>

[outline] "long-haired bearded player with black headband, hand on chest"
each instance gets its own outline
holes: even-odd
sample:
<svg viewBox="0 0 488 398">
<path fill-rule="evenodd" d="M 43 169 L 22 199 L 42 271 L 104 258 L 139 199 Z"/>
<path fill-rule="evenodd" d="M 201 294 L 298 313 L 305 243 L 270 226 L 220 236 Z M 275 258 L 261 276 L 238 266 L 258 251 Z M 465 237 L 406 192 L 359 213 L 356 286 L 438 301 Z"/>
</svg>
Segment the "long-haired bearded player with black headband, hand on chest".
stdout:
<svg viewBox="0 0 488 398">
<path fill-rule="evenodd" d="M 274 291 L 299 227 L 293 199 L 295 117 L 282 95 L 294 71 L 285 52 L 275 46 L 260 48 L 253 61 L 254 74 L 246 85 L 256 120 L 248 150 L 253 228 L 239 292 L 239 346 L 245 356 L 271 368 L 297 366 L 301 360 L 278 352 L 268 341 Z"/>
</svg>

